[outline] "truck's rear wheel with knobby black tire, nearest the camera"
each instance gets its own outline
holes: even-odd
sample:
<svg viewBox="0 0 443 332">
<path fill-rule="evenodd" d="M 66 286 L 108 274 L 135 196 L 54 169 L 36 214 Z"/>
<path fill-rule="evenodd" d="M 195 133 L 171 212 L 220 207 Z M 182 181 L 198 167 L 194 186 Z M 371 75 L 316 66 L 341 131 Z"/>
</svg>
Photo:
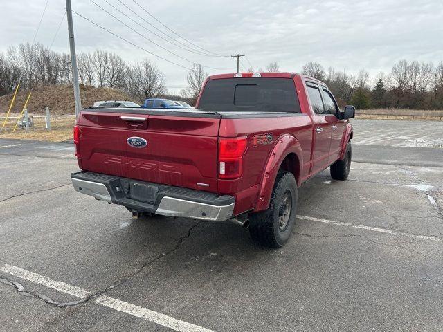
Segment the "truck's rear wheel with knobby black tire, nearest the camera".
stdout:
<svg viewBox="0 0 443 332">
<path fill-rule="evenodd" d="M 296 223 L 297 183 L 293 174 L 279 171 L 271 194 L 269 209 L 249 216 L 249 234 L 269 248 L 284 246 Z"/>
</svg>

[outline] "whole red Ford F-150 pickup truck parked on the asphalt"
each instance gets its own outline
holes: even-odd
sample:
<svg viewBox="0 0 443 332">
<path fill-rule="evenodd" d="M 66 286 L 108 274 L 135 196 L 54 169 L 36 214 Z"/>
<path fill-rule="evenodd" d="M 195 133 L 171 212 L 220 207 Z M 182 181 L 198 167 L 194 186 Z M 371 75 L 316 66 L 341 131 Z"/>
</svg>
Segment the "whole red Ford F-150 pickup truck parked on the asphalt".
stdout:
<svg viewBox="0 0 443 332">
<path fill-rule="evenodd" d="M 297 188 L 330 167 L 350 172 L 355 108 L 294 73 L 208 77 L 195 109 L 89 108 L 74 128 L 75 190 L 141 213 L 249 226 L 277 248 Z"/>
</svg>

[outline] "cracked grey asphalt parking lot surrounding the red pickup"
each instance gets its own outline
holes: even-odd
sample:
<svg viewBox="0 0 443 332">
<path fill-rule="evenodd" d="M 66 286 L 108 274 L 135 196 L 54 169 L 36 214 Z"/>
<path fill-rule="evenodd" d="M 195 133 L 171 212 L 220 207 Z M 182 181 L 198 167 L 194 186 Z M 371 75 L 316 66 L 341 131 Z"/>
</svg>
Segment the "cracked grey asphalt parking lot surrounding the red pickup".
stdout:
<svg viewBox="0 0 443 332">
<path fill-rule="evenodd" d="M 443 331 L 443 122 L 353 120 L 279 250 L 78 194 L 66 143 L 0 140 L 1 331 Z"/>
</svg>

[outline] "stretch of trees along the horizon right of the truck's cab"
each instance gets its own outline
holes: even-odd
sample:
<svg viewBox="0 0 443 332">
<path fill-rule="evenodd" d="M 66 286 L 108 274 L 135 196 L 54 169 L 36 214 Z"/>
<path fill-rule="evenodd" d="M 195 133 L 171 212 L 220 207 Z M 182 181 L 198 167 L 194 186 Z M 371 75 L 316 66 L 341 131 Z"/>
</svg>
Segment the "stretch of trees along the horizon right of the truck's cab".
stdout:
<svg viewBox="0 0 443 332">
<path fill-rule="evenodd" d="M 374 78 L 363 69 L 356 75 L 334 68 L 325 71 L 317 62 L 305 64 L 302 73 L 325 82 L 342 106 L 443 109 L 443 62 L 434 66 L 401 60 L 392 66 L 390 73 L 380 72 Z"/>
</svg>

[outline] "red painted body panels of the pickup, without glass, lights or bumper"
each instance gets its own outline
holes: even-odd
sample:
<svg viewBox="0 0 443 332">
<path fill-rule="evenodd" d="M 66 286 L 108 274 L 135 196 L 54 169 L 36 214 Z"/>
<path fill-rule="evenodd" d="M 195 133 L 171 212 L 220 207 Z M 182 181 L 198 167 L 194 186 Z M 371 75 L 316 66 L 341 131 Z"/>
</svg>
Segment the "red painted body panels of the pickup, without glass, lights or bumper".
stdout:
<svg viewBox="0 0 443 332">
<path fill-rule="evenodd" d="M 233 75 L 213 75 L 208 80 L 223 80 Z M 334 115 L 317 115 L 312 111 L 305 81 L 325 86 L 322 82 L 293 73 L 261 75 L 293 80 L 302 113 L 268 117 L 257 113 L 257 117 L 233 118 L 224 116 L 223 112 L 189 116 L 175 111 L 177 115 L 165 116 L 159 111 L 123 114 L 86 109 L 78 119 L 81 132 L 76 146 L 78 164 L 93 172 L 233 195 L 235 215 L 266 210 L 275 177 L 285 158 L 293 160 L 291 172 L 300 186 L 307 178 L 343 158 L 352 126 Z M 241 82 L 242 78 L 238 80 Z M 121 116 L 142 117 L 144 121 L 134 123 L 122 120 Z M 323 128 L 320 133 L 316 131 L 319 127 Z M 147 147 L 129 146 L 127 138 L 132 136 L 145 139 Z M 237 137 L 247 138 L 242 176 L 221 179 L 217 176 L 218 140 Z"/>
</svg>

